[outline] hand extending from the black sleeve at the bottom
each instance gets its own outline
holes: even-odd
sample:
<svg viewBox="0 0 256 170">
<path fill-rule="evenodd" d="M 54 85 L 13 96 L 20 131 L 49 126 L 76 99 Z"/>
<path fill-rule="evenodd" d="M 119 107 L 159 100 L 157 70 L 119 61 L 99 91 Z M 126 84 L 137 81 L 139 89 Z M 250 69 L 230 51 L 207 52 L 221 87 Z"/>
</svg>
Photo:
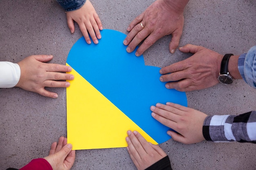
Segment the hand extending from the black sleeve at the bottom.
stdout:
<svg viewBox="0 0 256 170">
<path fill-rule="evenodd" d="M 147 142 L 139 132 L 128 130 L 127 134 L 127 150 L 138 170 L 144 170 L 166 157 L 166 153 L 158 145 Z"/>
</svg>

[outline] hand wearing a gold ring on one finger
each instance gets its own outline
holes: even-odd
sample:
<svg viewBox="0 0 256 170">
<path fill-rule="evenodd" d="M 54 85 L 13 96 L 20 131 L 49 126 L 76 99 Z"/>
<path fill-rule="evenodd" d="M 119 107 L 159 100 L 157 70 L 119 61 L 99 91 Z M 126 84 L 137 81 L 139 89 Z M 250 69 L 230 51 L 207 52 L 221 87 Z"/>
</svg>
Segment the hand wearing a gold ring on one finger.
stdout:
<svg viewBox="0 0 256 170">
<path fill-rule="evenodd" d="M 145 39 L 135 53 L 139 56 L 158 39 L 171 34 L 169 50 L 174 53 L 180 43 L 184 24 L 183 11 L 188 1 L 156 0 L 153 2 L 128 26 L 127 31 L 130 33 L 124 39 L 124 44 L 128 45 L 126 51 L 128 53 L 134 51 L 136 46 Z"/>
</svg>

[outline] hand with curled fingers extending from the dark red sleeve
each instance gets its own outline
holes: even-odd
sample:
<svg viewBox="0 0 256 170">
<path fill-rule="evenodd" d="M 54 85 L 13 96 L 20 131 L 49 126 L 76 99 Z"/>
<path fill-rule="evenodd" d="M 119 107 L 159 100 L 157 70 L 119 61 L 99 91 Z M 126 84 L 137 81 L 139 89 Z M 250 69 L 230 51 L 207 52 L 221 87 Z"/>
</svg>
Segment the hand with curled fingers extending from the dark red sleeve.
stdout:
<svg viewBox="0 0 256 170">
<path fill-rule="evenodd" d="M 49 156 L 44 157 L 53 170 L 70 170 L 75 161 L 76 151 L 72 150 L 72 145 L 67 144 L 67 138 L 60 137 L 54 142 L 49 151 Z"/>
</svg>

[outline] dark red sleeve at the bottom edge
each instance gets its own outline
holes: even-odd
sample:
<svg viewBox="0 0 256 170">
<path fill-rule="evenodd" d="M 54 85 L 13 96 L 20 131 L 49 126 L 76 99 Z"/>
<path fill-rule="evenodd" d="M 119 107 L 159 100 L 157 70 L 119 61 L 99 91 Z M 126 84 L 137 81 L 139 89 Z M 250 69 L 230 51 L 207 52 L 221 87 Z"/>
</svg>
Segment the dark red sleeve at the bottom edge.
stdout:
<svg viewBox="0 0 256 170">
<path fill-rule="evenodd" d="M 33 159 L 20 170 L 53 170 L 52 166 L 43 158 Z"/>
</svg>

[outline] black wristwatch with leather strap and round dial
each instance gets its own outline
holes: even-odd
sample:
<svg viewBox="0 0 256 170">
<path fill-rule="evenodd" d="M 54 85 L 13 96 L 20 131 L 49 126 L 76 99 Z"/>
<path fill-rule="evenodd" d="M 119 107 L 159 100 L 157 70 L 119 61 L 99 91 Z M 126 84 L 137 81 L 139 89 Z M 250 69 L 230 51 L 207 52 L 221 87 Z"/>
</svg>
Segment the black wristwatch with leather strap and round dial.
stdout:
<svg viewBox="0 0 256 170">
<path fill-rule="evenodd" d="M 233 77 L 229 74 L 228 66 L 229 66 L 229 58 L 233 54 L 225 54 L 222 58 L 221 64 L 220 64 L 220 73 L 218 80 L 222 84 L 232 84 L 233 83 Z"/>
</svg>

